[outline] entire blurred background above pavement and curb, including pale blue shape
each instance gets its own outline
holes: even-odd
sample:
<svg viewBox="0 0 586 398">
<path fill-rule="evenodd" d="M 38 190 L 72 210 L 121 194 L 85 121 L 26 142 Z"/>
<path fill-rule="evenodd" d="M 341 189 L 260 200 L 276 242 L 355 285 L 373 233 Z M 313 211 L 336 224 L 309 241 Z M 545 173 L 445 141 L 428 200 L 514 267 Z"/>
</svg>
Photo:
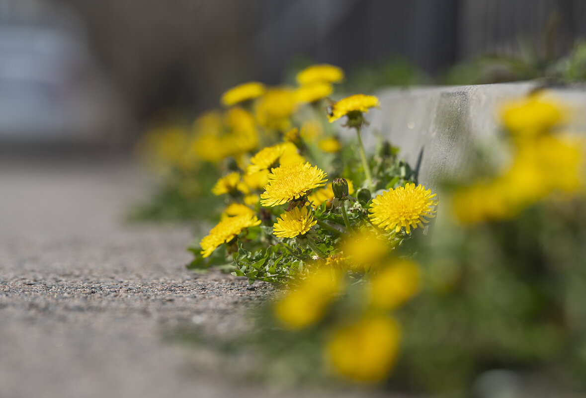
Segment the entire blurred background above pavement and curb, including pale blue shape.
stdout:
<svg viewBox="0 0 586 398">
<path fill-rule="evenodd" d="M 124 151 L 162 109 L 313 62 L 366 89 L 482 82 L 452 67 L 563 56 L 584 21 L 581 0 L 0 0 L 0 143 Z"/>
</svg>

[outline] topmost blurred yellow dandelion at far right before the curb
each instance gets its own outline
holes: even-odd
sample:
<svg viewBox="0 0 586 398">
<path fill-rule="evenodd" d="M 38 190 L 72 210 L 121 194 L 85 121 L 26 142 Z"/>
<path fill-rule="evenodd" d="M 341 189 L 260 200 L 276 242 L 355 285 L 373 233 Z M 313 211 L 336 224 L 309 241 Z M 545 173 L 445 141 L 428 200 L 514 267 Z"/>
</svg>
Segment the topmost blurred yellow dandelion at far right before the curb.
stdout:
<svg viewBox="0 0 586 398">
<path fill-rule="evenodd" d="M 537 93 L 503 106 L 501 118 L 512 134 L 535 135 L 559 123 L 563 119 L 563 109 L 560 104 Z"/>
</svg>

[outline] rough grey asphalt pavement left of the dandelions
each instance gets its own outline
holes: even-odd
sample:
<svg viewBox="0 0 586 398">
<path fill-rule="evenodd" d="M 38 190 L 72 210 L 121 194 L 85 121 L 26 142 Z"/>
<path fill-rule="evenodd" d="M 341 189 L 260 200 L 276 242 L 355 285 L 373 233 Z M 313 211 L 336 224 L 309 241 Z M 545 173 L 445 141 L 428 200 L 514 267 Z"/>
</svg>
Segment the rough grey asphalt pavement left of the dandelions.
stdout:
<svg viewBox="0 0 586 398">
<path fill-rule="evenodd" d="M 1 398 L 276 394 L 196 371 L 200 352 L 165 339 L 239 328 L 271 286 L 186 270 L 187 226 L 121 223 L 145 188 L 111 161 L 0 164 Z"/>
</svg>

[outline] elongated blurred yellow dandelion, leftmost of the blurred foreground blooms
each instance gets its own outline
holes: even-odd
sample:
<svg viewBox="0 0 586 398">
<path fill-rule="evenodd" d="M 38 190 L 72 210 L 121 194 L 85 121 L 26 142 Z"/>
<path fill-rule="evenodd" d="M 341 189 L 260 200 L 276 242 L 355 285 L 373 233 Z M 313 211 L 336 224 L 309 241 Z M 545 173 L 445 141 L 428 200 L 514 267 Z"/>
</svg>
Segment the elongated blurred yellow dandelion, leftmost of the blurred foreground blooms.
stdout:
<svg viewBox="0 0 586 398">
<path fill-rule="evenodd" d="M 314 324 L 339 290 L 340 274 L 329 268 L 318 268 L 275 303 L 275 316 L 289 329 Z"/>
</svg>

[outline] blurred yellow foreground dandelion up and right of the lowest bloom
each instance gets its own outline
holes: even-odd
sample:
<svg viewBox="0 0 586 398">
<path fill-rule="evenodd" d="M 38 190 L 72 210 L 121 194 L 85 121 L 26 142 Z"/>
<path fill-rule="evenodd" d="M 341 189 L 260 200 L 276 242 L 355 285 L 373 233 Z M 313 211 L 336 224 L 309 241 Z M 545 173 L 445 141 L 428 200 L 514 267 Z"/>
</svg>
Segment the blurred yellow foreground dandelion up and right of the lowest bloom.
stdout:
<svg viewBox="0 0 586 398">
<path fill-rule="evenodd" d="M 373 307 L 393 309 L 411 298 L 419 289 L 420 272 L 411 260 L 395 259 L 380 267 L 370 280 Z"/>
</svg>

